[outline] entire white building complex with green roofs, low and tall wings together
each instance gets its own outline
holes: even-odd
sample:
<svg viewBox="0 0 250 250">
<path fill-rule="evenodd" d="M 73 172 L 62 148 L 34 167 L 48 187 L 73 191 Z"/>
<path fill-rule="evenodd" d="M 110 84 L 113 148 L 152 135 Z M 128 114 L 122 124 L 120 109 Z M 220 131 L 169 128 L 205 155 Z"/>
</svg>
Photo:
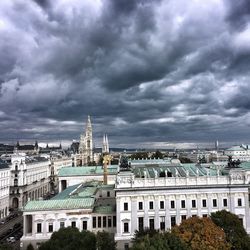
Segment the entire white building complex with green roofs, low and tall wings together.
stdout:
<svg viewBox="0 0 250 250">
<path fill-rule="evenodd" d="M 128 163 L 123 158 L 110 176 L 114 186 L 81 184 L 101 178 L 101 167 L 88 168 L 62 168 L 59 179 L 66 189 L 61 186 L 64 191 L 49 201 L 27 203 L 23 246 L 37 246 L 60 227 L 72 226 L 111 230 L 118 249 L 128 249 L 136 230 L 168 230 L 188 217 L 206 217 L 222 209 L 238 215 L 250 233 L 249 162 L 238 168 L 210 168 L 170 159 Z"/>
</svg>

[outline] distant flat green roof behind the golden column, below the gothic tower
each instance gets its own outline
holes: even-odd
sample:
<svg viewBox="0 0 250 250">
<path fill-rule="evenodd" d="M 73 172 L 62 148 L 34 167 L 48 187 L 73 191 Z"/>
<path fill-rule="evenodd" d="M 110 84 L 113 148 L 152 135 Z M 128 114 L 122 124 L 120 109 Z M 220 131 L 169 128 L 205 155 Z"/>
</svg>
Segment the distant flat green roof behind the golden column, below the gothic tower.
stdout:
<svg viewBox="0 0 250 250">
<path fill-rule="evenodd" d="M 116 174 L 118 165 L 108 167 L 109 174 Z M 86 167 L 64 167 L 59 170 L 58 176 L 81 176 L 81 175 L 100 175 L 103 174 L 102 166 Z"/>
</svg>

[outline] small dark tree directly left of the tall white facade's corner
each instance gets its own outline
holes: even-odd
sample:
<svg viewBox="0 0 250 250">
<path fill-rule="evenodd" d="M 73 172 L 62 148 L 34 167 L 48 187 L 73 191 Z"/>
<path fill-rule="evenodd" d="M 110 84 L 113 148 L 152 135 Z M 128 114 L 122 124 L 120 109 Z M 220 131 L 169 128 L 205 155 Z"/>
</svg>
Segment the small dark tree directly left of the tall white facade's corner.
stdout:
<svg viewBox="0 0 250 250">
<path fill-rule="evenodd" d="M 105 231 L 97 233 L 96 245 L 98 250 L 116 250 L 114 235 Z"/>
</svg>

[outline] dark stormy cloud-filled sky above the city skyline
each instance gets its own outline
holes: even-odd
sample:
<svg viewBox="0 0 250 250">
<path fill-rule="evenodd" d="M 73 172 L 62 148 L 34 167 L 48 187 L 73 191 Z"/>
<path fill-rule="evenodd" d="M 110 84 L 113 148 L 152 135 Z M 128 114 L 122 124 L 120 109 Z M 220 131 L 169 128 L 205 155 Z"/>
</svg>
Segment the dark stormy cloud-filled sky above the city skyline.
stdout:
<svg viewBox="0 0 250 250">
<path fill-rule="evenodd" d="M 1 0 L 0 141 L 250 143 L 248 0 Z"/>
</svg>

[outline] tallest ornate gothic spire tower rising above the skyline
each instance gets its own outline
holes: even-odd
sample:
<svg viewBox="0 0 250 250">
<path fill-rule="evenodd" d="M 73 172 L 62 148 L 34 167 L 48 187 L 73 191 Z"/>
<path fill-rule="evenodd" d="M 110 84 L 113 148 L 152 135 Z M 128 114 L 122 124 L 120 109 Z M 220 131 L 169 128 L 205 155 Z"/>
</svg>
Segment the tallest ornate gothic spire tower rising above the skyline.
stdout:
<svg viewBox="0 0 250 250">
<path fill-rule="evenodd" d="M 79 154 L 82 161 L 82 165 L 88 165 L 90 162 L 94 161 L 93 136 L 90 116 L 88 116 L 85 134 L 81 134 L 80 137 Z"/>
</svg>

